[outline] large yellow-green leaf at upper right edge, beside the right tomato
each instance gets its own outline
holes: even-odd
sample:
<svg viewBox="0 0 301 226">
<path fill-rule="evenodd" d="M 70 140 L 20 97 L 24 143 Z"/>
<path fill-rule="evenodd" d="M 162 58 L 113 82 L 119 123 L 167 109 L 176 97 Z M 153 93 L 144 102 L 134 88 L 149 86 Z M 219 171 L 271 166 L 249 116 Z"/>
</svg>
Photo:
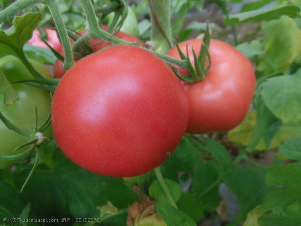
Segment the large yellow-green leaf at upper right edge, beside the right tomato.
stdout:
<svg viewBox="0 0 301 226">
<path fill-rule="evenodd" d="M 257 66 L 258 71 L 269 75 L 285 72 L 293 60 L 301 54 L 301 30 L 296 21 L 283 16 L 279 20 L 262 23 L 264 52 Z"/>
</svg>

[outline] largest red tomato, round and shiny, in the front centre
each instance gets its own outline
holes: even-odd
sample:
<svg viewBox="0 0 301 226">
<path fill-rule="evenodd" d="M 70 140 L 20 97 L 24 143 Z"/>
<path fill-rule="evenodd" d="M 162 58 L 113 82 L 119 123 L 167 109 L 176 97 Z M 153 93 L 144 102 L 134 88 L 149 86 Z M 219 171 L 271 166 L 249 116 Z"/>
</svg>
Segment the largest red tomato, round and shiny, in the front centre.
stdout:
<svg viewBox="0 0 301 226">
<path fill-rule="evenodd" d="M 74 163 L 105 176 L 132 177 L 174 151 L 188 124 L 189 103 L 163 60 L 117 45 L 66 72 L 54 91 L 51 117 L 57 145 Z"/>
</svg>

